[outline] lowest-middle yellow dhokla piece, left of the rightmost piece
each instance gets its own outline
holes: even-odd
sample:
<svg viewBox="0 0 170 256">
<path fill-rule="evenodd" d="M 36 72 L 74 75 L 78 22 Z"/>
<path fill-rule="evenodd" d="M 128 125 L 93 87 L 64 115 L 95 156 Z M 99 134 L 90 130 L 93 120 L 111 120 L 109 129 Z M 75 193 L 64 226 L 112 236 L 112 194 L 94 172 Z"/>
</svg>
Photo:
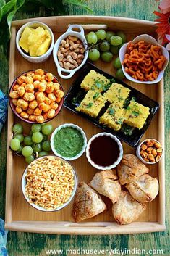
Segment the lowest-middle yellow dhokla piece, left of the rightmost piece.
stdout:
<svg viewBox="0 0 170 256">
<path fill-rule="evenodd" d="M 124 112 L 124 109 L 111 104 L 106 112 L 101 116 L 99 123 L 102 123 L 115 131 L 119 131 L 124 121 Z"/>
</svg>

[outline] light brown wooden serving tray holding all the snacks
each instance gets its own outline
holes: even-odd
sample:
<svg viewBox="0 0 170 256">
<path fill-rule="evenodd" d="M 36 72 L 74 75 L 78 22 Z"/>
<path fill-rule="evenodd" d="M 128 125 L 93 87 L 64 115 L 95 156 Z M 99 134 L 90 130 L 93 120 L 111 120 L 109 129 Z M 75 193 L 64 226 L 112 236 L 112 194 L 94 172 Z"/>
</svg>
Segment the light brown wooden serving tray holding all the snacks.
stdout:
<svg viewBox="0 0 170 256">
<path fill-rule="evenodd" d="M 43 68 L 51 73 L 54 73 L 58 78 L 56 66 L 53 57 L 42 64 L 33 64 L 27 62 L 16 49 L 15 37 L 17 30 L 25 22 L 38 20 L 45 22 L 54 32 L 55 40 L 61 33 L 67 30 L 69 24 L 85 25 L 85 30 L 94 30 L 98 28 L 108 28 L 109 30 L 124 30 L 127 33 L 127 40 L 136 37 L 141 33 L 148 33 L 156 37 L 156 25 L 153 22 L 144 20 L 134 20 L 122 17 L 95 17 L 95 16 L 68 16 L 68 17 L 43 17 L 31 20 L 20 20 L 12 22 L 12 38 L 10 44 L 10 62 L 9 62 L 9 86 L 14 78 L 20 73 L 35 69 Z M 92 24 L 93 23 L 93 24 Z M 90 25 L 89 25 L 90 24 Z M 99 24 L 99 25 L 98 25 Z M 106 64 L 98 61 L 98 67 L 105 70 L 107 73 L 115 73 L 111 64 Z M 62 80 L 62 86 L 65 92 L 68 91 L 73 80 Z M 137 90 L 143 92 L 151 99 L 156 100 L 160 105 L 160 110 L 154 117 L 150 127 L 143 136 L 145 138 L 155 138 L 161 141 L 164 147 L 164 116 L 163 116 L 163 80 L 160 83 L 151 86 L 143 84 L 134 84 L 126 80 L 130 86 L 134 86 Z M 7 150 L 7 196 L 6 196 L 6 224 L 5 227 L 13 231 L 30 231 L 48 234 L 134 234 L 143 232 L 163 231 L 165 229 L 165 175 L 164 175 L 164 158 L 157 165 L 149 165 L 151 176 L 158 177 L 160 183 L 160 191 L 158 197 L 148 204 L 147 209 L 137 222 L 119 226 L 114 222 L 111 214 L 110 205 L 109 210 L 100 215 L 91 218 L 82 223 L 74 223 L 72 220 L 72 203 L 59 212 L 41 212 L 31 207 L 24 199 L 21 191 L 21 177 L 25 170 L 26 164 L 22 157 L 16 157 L 9 149 L 9 142 L 12 139 L 12 125 L 19 120 L 12 113 L 9 108 L 8 115 L 8 150 Z M 51 122 L 54 127 L 62 123 L 75 123 L 80 125 L 85 131 L 88 139 L 93 134 L 100 132 L 100 128 L 93 125 L 93 123 L 86 121 L 84 118 L 75 115 L 69 110 L 63 108 L 58 117 Z M 25 131 L 30 125 L 24 123 Z M 123 143 L 124 152 L 131 152 L 135 154 L 135 149 Z M 72 161 L 79 181 L 89 182 L 93 178 L 96 170 L 86 160 L 85 154 L 79 160 Z"/>
</svg>

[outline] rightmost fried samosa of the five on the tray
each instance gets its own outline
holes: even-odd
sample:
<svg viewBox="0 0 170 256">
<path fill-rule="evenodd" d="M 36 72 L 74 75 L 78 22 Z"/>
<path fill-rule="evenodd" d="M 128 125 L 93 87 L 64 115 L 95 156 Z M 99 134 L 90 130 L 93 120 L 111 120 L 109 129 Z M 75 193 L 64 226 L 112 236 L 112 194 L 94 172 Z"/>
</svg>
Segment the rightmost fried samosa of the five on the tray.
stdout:
<svg viewBox="0 0 170 256">
<path fill-rule="evenodd" d="M 158 194 L 158 180 L 148 174 L 137 178 L 136 181 L 127 183 L 126 188 L 131 196 L 138 202 L 151 202 Z"/>
</svg>

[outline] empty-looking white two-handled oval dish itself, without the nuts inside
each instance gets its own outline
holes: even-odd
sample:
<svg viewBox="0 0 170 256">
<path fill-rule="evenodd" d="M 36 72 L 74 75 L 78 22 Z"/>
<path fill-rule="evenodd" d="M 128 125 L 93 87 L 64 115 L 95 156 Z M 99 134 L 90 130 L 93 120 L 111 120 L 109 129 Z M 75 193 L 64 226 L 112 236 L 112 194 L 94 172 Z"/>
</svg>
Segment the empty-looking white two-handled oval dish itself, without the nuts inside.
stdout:
<svg viewBox="0 0 170 256">
<path fill-rule="evenodd" d="M 73 30 L 74 28 L 80 29 L 80 32 L 74 31 Z M 77 38 L 79 38 L 82 41 L 82 43 L 85 47 L 85 57 L 84 57 L 82 63 L 78 67 L 76 67 L 74 70 L 66 70 L 65 68 L 61 67 L 59 65 L 59 60 L 57 57 L 57 52 L 59 50 L 61 40 L 67 38 L 67 36 L 77 36 Z M 84 33 L 82 26 L 77 25 L 77 24 L 69 25 L 69 28 L 67 29 L 67 31 L 56 40 L 56 43 L 54 44 L 54 49 L 53 49 L 53 57 L 54 57 L 54 62 L 56 63 L 56 67 L 57 67 L 59 76 L 64 79 L 71 78 L 72 75 L 74 75 L 75 72 L 77 72 L 77 70 L 79 70 L 85 64 L 86 60 L 88 59 L 88 43 L 86 41 L 85 33 Z M 64 75 L 63 73 L 67 73 L 68 75 Z"/>
</svg>

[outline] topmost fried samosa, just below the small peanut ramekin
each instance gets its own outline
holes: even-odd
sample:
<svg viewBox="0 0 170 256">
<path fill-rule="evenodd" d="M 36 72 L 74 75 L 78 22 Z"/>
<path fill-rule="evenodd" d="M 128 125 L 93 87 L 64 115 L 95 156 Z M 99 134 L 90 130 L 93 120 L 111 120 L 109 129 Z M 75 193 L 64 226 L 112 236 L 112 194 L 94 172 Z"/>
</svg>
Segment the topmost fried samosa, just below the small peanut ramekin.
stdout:
<svg viewBox="0 0 170 256">
<path fill-rule="evenodd" d="M 121 185 L 135 181 L 150 171 L 134 154 L 124 154 L 116 169 Z"/>
</svg>

